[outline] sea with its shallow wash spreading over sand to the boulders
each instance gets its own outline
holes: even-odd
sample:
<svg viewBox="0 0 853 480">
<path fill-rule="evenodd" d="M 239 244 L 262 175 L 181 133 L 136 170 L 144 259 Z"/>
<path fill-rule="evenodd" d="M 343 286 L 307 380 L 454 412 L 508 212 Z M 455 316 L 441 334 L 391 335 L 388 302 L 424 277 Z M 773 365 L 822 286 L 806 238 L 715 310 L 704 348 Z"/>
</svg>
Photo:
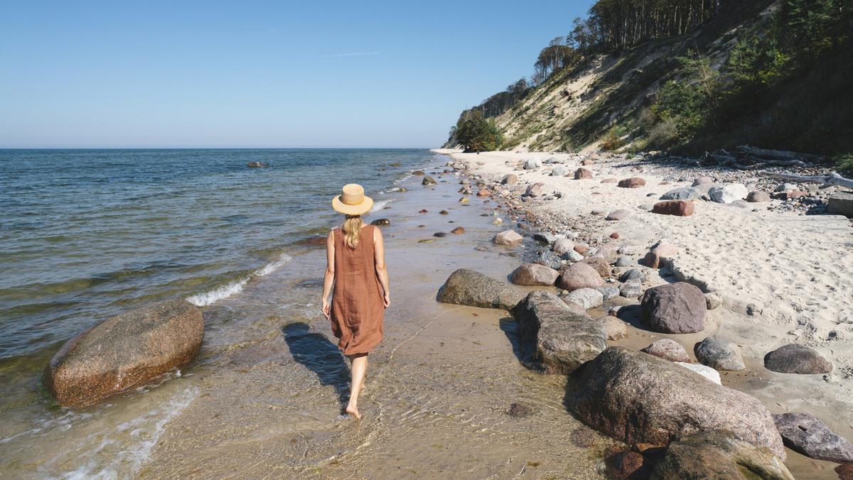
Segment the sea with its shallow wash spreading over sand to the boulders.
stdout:
<svg viewBox="0 0 853 480">
<path fill-rule="evenodd" d="M 0 150 L 0 477 L 600 477 L 610 441 L 572 418 L 566 379 L 520 365 L 507 313 L 435 301 L 456 269 L 505 279 L 523 254 L 491 244 L 510 219 L 460 203 L 449 160 Z M 390 219 L 392 305 L 361 420 L 342 412 L 349 365 L 320 312 L 325 249 L 308 241 L 342 222 L 331 200 L 353 182 L 374 199 L 365 220 Z M 194 361 L 91 407 L 51 401 L 42 374 L 63 343 L 171 298 L 204 315 Z M 512 402 L 534 414 L 511 417 Z"/>
</svg>

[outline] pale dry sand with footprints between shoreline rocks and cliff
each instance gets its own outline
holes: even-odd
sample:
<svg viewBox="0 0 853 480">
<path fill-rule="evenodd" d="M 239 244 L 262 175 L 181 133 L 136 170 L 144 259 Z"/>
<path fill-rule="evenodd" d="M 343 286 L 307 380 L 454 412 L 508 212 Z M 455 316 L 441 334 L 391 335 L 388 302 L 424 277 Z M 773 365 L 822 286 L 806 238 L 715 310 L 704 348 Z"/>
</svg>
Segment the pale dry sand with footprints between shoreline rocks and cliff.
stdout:
<svg viewBox="0 0 853 480">
<path fill-rule="evenodd" d="M 695 201 L 690 217 L 653 214 L 638 208 L 653 205 L 659 196 L 677 187 L 689 187 L 697 176 L 755 176 L 728 169 L 676 168 L 664 163 L 642 163 L 635 159 L 601 155 L 592 180 L 543 175 L 554 165 L 534 171 L 517 171 L 513 162 L 537 156 L 564 160 L 569 171 L 580 165 L 574 154 L 550 153 L 460 153 L 438 150 L 459 159 L 487 180 L 509 172 L 519 176 L 516 189 L 543 182 L 545 194 L 562 197 L 539 203 L 521 203 L 523 210 L 540 217 L 566 217 L 566 229 L 575 223 L 595 226 L 596 239 L 619 246 L 635 246 L 633 257 L 641 258 L 653 244 L 663 240 L 676 246 L 671 269 L 652 275 L 647 286 L 688 279 L 716 292 L 722 306 L 709 312 L 710 324 L 703 333 L 660 335 L 679 341 L 688 352 L 693 344 L 711 334 L 740 345 L 747 371 L 723 373 L 723 385 L 744 390 L 762 400 L 771 413 L 804 412 L 823 419 L 839 435 L 853 438 L 853 223 L 838 215 L 803 215 L 797 211 L 769 210 L 782 200 L 748 204 L 746 208 Z M 641 171 L 636 170 L 641 167 Z M 646 186 L 618 188 L 602 183 L 605 178 L 641 176 Z M 687 182 L 659 184 L 664 177 L 683 177 Z M 779 181 L 781 182 L 781 181 Z M 605 216 L 617 209 L 631 211 L 630 217 L 608 222 Z M 506 213 L 507 228 L 517 228 Z M 524 223 L 524 221 L 522 221 Z M 528 225 L 529 226 L 529 225 Z M 532 228 L 535 231 L 537 228 Z M 618 240 L 609 235 L 618 233 Z M 524 232 L 519 232 L 524 233 Z M 649 338 L 635 340 L 648 344 Z M 763 367 L 763 356 L 784 344 L 805 344 L 833 363 L 825 375 L 795 375 L 771 372 Z M 645 346 L 643 344 L 642 346 Z"/>
</svg>

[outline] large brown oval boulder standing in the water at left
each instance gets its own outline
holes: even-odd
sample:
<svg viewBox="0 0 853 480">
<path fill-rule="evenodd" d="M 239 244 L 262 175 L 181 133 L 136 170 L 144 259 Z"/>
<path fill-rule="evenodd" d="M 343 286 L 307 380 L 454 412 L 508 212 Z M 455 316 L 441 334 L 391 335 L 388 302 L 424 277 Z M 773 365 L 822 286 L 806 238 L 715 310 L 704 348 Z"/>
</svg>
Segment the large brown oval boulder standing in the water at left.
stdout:
<svg viewBox="0 0 853 480">
<path fill-rule="evenodd" d="M 146 385 L 191 361 L 205 321 L 186 300 L 165 300 L 102 321 L 50 359 L 44 386 L 62 407 L 85 407 Z"/>
</svg>

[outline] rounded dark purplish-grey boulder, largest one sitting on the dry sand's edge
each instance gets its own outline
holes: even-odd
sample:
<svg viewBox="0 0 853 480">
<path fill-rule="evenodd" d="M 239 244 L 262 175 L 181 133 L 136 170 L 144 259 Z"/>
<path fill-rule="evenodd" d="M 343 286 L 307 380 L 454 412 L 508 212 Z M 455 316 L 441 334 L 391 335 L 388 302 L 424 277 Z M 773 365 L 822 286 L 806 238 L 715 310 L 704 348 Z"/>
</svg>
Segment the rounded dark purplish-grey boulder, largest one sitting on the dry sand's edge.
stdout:
<svg viewBox="0 0 853 480">
<path fill-rule="evenodd" d="M 640 298 L 640 321 L 658 333 L 705 330 L 705 295 L 698 286 L 679 281 L 654 286 Z"/>
</svg>

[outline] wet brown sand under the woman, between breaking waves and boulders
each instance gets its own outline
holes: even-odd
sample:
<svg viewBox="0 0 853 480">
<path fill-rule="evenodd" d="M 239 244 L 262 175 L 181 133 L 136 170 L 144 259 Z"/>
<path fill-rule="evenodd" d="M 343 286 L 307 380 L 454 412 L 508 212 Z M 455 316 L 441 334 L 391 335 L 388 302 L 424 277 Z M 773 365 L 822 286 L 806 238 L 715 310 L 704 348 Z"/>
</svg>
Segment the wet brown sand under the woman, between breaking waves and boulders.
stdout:
<svg viewBox="0 0 853 480">
<path fill-rule="evenodd" d="M 435 301 L 456 269 L 506 278 L 522 249 L 491 245 L 503 229 L 482 216 L 491 205 L 460 205 L 456 176 L 433 176 L 433 187 L 404 182 L 409 192 L 367 219 L 391 219 L 392 306 L 369 356 L 363 419 L 340 414 L 349 370 L 319 312 L 319 247 L 206 309 L 206 343 L 182 379 L 197 396 L 165 425 L 141 477 L 601 478 L 615 441 L 572 417 L 565 377 L 521 367 L 508 313 Z M 449 233 L 458 226 L 466 232 Z M 285 292 L 291 304 L 279 303 Z M 531 413 L 511 416 L 514 402 Z"/>
</svg>

